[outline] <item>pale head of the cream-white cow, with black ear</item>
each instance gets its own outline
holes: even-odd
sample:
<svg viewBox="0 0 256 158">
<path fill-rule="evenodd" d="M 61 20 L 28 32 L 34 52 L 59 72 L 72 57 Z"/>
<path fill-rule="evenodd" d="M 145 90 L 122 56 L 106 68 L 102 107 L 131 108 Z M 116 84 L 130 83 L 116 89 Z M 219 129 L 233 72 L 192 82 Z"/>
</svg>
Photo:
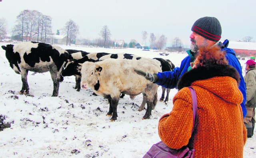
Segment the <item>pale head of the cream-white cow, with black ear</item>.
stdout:
<svg viewBox="0 0 256 158">
<path fill-rule="evenodd" d="M 84 62 L 82 64 L 81 69 L 81 87 L 87 88 L 91 87 L 94 90 L 98 90 L 100 86 L 100 74 L 102 71 L 102 67 L 99 65 L 96 65 L 96 63 L 93 62 Z"/>
</svg>

